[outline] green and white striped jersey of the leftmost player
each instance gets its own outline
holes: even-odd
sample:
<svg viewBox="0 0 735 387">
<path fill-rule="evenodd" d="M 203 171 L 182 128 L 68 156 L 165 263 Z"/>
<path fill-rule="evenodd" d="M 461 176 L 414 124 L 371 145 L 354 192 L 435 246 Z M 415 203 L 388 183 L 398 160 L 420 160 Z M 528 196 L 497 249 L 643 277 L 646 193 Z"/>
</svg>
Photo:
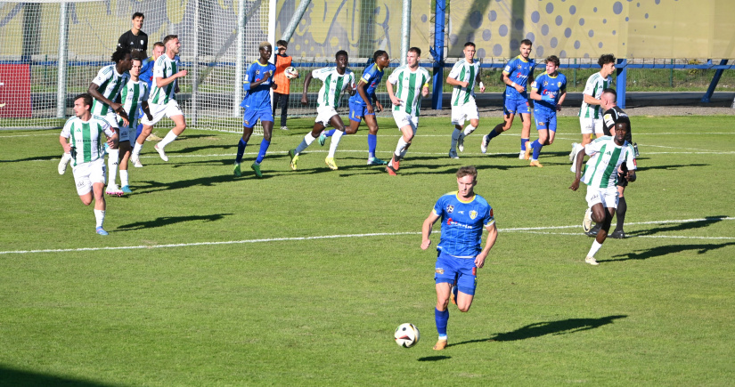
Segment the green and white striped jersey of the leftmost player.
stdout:
<svg viewBox="0 0 735 387">
<path fill-rule="evenodd" d="M 61 129 L 61 137 L 69 139 L 74 159 L 73 165 L 89 163 L 104 157 L 104 135 L 111 137 L 115 132 L 110 124 L 99 116 L 92 116 L 89 121 L 79 117 L 71 117 Z"/>
</svg>

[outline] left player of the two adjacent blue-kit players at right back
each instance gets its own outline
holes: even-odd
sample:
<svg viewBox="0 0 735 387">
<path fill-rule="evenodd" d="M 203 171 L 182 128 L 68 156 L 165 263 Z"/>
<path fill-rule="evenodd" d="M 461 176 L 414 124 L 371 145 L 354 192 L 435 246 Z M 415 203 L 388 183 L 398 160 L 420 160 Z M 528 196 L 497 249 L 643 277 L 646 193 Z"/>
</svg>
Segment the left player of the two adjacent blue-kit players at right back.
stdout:
<svg viewBox="0 0 735 387">
<path fill-rule="evenodd" d="M 528 39 L 521 40 L 520 55 L 509 60 L 502 69 L 502 82 L 506 85 L 503 94 L 505 122 L 495 125 L 493 131 L 483 137 L 480 144 L 482 153 L 487 152 L 487 145 L 491 140 L 510 129 L 510 126 L 513 125 L 513 118 L 519 114 L 523 123 L 520 132 L 519 159 L 526 158 L 526 143 L 531 137 L 531 107 L 528 104 L 527 85 L 528 79 L 534 79 L 536 65 L 534 60 L 528 58 L 532 45 L 533 43 Z"/>
</svg>

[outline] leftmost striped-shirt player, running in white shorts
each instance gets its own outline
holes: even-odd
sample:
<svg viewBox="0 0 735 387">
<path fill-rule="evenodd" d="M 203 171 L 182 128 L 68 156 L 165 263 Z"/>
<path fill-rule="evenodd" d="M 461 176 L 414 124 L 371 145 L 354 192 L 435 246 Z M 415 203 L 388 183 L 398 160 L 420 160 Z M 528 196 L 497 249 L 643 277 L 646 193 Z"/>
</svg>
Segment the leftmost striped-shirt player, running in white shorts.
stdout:
<svg viewBox="0 0 735 387">
<path fill-rule="evenodd" d="M 108 235 L 102 226 L 106 203 L 102 190 L 105 181 L 104 141 L 107 137 L 110 148 L 117 148 L 118 133 L 110 128 L 110 124 L 102 117 L 92 116 L 92 96 L 80 94 L 74 98 L 74 115 L 61 130 L 59 142 L 64 153 L 69 153 L 73 159 L 74 182 L 77 193 L 85 206 L 92 204 L 94 196 L 94 218 L 96 232 Z"/>
</svg>

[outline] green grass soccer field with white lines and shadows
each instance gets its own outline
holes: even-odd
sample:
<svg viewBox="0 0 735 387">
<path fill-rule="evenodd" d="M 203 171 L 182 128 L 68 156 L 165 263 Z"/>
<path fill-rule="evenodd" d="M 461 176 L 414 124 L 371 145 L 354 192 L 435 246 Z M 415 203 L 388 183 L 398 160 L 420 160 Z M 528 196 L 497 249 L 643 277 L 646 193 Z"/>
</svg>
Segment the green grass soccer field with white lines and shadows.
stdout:
<svg viewBox="0 0 735 387">
<path fill-rule="evenodd" d="M 365 165 L 364 127 L 338 171 L 314 142 L 293 172 L 313 120 L 290 120 L 263 179 L 248 167 L 260 138 L 235 178 L 239 135 L 187 129 L 167 163 L 146 144 L 134 194 L 107 198 L 108 237 L 71 168 L 56 172 L 60 130 L 0 132 L 0 385 L 731 385 L 732 117 L 632 118 L 630 238 L 597 267 L 585 189 L 568 189 L 576 117 L 543 168 L 518 159 L 519 123 L 479 152 L 498 121 L 455 160 L 448 118 L 422 118 L 398 176 Z M 398 131 L 379 123 L 388 159 Z M 478 167 L 500 235 L 433 351 L 439 224 L 422 251 L 421 222 L 461 165 Z M 393 341 L 404 322 L 421 330 L 411 349 Z"/>
</svg>

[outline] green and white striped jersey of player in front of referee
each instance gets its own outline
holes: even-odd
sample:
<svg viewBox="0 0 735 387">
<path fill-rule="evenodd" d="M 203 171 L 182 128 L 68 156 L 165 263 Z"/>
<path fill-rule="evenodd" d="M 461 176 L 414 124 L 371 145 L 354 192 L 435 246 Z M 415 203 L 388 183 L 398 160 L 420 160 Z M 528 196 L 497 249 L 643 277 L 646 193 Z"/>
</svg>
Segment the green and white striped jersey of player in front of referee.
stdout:
<svg viewBox="0 0 735 387">
<path fill-rule="evenodd" d="M 636 168 L 635 151 L 628 141 L 617 146 L 614 137 L 602 136 L 587 144 L 584 152 L 590 159 L 587 160 L 582 182 L 591 187 L 615 188 L 618 166 L 625 163 L 628 171 Z"/>
</svg>

